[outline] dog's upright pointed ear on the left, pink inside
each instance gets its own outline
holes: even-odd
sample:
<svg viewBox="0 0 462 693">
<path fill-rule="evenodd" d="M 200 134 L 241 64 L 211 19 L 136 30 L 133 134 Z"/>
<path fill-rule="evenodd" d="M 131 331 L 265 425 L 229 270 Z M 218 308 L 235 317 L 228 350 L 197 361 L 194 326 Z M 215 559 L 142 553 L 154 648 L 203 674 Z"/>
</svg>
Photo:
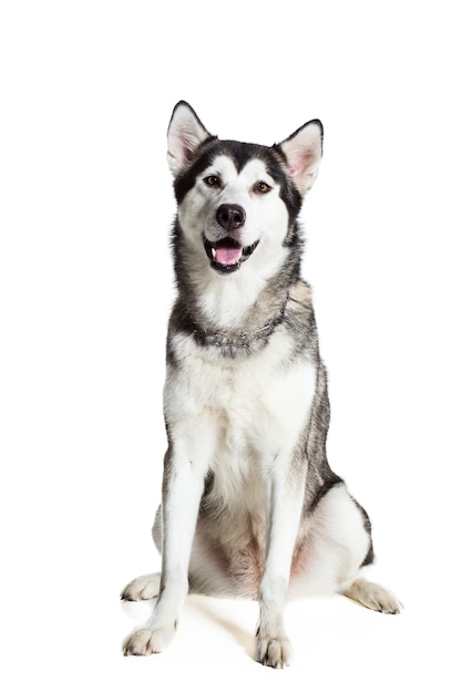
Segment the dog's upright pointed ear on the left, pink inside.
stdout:
<svg viewBox="0 0 462 693">
<path fill-rule="evenodd" d="M 205 139 L 212 137 L 199 118 L 185 101 L 179 101 L 173 110 L 167 132 L 167 161 L 176 176 L 193 158 Z"/>
</svg>

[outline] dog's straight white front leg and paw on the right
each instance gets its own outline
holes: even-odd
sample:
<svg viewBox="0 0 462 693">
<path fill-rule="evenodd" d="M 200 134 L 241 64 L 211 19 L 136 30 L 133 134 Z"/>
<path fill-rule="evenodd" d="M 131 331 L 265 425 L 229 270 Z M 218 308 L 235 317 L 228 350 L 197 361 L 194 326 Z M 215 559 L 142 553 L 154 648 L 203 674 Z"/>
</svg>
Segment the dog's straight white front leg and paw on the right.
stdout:
<svg viewBox="0 0 462 693">
<path fill-rule="evenodd" d="M 265 569 L 259 587 L 260 618 L 257 659 L 261 664 L 281 669 L 291 660 L 291 647 L 284 628 L 284 611 L 290 568 L 300 521 L 304 484 L 289 478 L 277 458 L 267 490 Z"/>
</svg>

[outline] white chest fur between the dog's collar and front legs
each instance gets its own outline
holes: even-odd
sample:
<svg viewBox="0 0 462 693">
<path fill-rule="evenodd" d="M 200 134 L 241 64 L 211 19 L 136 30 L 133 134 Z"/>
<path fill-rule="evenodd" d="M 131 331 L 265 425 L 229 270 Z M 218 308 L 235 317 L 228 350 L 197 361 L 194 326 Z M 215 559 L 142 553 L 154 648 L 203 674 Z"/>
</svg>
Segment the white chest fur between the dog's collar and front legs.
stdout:
<svg viewBox="0 0 462 693">
<path fill-rule="evenodd" d="M 179 366 L 167 370 L 164 408 L 171 439 L 188 464 L 213 469 L 224 496 L 243 494 L 243 482 L 266 476 L 287 458 L 306 425 L 316 368 L 295 362 L 290 338 L 274 333 L 250 356 L 224 359 L 177 335 Z"/>
</svg>

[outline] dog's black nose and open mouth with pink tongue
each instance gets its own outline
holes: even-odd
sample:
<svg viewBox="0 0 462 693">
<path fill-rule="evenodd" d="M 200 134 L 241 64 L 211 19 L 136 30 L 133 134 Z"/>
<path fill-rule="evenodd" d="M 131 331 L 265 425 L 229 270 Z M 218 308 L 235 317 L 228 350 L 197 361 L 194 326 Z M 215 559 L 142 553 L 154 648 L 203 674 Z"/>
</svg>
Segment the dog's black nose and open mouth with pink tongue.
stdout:
<svg viewBox="0 0 462 693">
<path fill-rule="evenodd" d="M 220 205 L 216 211 L 216 220 L 226 236 L 219 240 L 211 241 L 204 237 L 204 248 L 211 260 L 211 267 L 218 272 L 229 273 L 239 269 L 258 246 L 256 240 L 251 246 L 242 246 L 235 237 L 246 220 L 246 215 L 240 205 Z"/>
</svg>

